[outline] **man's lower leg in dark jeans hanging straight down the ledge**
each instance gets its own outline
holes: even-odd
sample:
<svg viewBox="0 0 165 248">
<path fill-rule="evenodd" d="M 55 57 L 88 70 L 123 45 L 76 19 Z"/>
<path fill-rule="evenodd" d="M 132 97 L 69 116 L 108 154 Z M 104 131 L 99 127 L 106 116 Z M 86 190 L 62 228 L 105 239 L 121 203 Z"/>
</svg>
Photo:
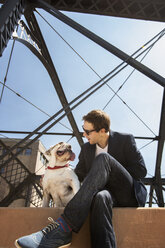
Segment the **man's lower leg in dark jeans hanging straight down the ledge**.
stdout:
<svg viewBox="0 0 165 248">
<path fill-rule="evenodd" d="M 92 248 L 116 248 L 112 225 L 113 200 L 108 190 L 98 192 L 90 211 L 90 232 Z"/>
</svg>

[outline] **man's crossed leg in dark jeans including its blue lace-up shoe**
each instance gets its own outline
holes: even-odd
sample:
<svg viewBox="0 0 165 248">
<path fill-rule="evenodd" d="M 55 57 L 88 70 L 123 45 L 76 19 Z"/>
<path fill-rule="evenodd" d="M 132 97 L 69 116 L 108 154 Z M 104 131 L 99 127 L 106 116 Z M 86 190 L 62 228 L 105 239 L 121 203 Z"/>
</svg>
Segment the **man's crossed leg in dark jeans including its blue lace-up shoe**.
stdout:
<svg viewBox="0 0 165 248">
<path fill-rule="evenodd" d="M 122 179 L 122 181 L 120 181 Z M 64 210 L 62 218 L 64 224 L 75 232 L 78 232 L 83 225 L 96 193 L 105 187 L 112 188 L 115 192 L 115 185 L 118 181 L 118 190 L 122 196 L 122 205 L 128 203 L 133 196 L 133 179 L 130 174 L 120 165 L 112 156 L 107 153 L 100 154 L 94 160 L 94 163 L 85 178 L 83 185 L 73 199 L 68 203 Z M 113 193 L 113 192 L 112 192 Z M 117 200 L 119 195 L 116 194 Z M 126 205 L 127 206 L 127 205 Z M 64 233 L 61 231 L 61 225 L 55 222 L 49 228 L 45 228 L 33 235 L 22 237 L 17 240 L 18 247 L 23 248 L 58 248 L 71 240 L 71 232 Z M 28 242 L 28 245 L 27 245 Z"/>
</svg>

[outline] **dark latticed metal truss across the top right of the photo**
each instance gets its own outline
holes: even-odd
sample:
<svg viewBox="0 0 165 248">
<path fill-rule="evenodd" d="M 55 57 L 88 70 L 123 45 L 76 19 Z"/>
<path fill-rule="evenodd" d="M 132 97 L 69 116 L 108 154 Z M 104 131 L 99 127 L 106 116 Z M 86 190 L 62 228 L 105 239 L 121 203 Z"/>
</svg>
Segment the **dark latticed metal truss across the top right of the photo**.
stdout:
<svg viewBox="0 0 165 248">
<path fill-rule="evenodd" d="M 59 10 L 165 21 L 164 0 L 45 0 L 44 2 Z"/>
</svg>

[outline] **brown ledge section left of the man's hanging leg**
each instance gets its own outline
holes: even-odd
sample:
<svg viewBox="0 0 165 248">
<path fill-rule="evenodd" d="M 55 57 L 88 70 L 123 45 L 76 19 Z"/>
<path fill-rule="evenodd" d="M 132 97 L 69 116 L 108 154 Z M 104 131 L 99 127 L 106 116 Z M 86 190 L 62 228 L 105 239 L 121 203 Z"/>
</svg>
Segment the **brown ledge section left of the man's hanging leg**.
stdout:
<svg viewBox="0 0 165 248">
<path fill-rule="evenodd" d="M 0 208 L 0 248 L 14 248 L 14 241 L 21 236 L 41 230 L 58 218 L 61 208 Z M 73 233 L 69 248 L 90 248 L 89 225 L 86 222 L 79 234 Z"/>
</svg>

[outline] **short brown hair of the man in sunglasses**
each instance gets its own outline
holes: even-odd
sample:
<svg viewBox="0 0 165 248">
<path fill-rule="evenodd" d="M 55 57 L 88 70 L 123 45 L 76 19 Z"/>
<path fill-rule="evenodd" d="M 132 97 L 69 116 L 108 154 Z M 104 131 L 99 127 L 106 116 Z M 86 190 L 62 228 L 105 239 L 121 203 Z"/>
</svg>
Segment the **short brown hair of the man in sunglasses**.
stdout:
<svg viewBox="0 0 165 248">
<path fill-rule="evenodd" d="M 105 132 L 110 130 L 109 115 L 102 110 L 92 110 L 87 115 L 84 115 L 82 119 L 92 123 L 97 132 L 102 128 L 105 128 Z"/>
</svg>

